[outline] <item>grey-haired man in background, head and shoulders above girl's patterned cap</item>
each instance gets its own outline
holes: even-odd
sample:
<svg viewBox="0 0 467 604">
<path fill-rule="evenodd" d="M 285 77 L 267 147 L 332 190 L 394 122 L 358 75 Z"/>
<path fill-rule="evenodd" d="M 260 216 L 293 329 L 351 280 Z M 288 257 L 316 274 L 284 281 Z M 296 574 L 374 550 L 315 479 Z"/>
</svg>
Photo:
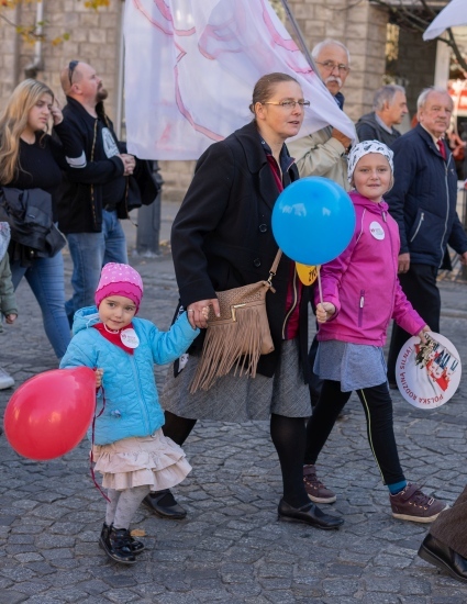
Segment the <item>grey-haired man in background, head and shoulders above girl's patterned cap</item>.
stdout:
<svg viewBox="0 0 467 604">
<path fill-rule="evenodd" d="M 390 147 L 401 135 L 394 125 L 408 114 L 405 90 L 388 85 L 375 92 L 371 113 L 366 113 L 356 123 L 358 139 L 380 141 Z"/>
</svg>

